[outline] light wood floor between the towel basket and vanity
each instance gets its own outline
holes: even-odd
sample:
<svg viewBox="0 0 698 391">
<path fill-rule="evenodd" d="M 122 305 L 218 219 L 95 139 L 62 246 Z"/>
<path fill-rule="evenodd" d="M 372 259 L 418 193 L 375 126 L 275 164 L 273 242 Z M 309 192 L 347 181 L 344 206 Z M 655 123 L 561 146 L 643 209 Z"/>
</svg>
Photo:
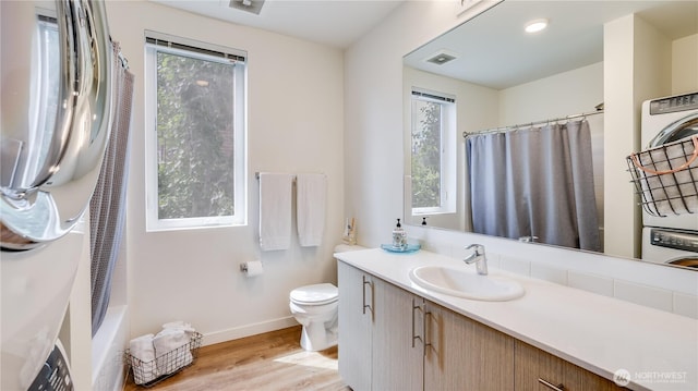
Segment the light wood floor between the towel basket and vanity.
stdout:
<svg viewBox="0 0 698 391">
<path fill-rule="evenodd" d="M 351 391 L 337 371 L 337 347 L 305 352 L 300 335 L 298 326 L 203 346 L 179 374 L 147 389 L 129 376 L 124 391 Z"/>
</svg>

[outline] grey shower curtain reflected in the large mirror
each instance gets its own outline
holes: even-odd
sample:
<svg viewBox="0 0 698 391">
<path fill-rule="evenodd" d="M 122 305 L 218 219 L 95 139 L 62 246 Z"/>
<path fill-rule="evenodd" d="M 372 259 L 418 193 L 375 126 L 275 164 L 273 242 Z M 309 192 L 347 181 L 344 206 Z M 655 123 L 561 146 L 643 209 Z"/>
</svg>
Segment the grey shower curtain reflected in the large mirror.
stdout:
<svg viewBox="0 0 698 391">
<path fill-rule="evenodd" d="M 600 251 L 586 120 L 468 136 L 473 232 Z"/>
</svg>

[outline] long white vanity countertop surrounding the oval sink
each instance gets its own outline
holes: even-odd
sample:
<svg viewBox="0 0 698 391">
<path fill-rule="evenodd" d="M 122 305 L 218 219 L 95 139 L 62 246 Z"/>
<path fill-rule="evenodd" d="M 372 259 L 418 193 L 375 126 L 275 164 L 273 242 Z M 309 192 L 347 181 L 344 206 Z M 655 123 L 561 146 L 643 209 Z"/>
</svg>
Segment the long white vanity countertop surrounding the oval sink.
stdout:
<svg viewBox="0 0 698 391">
<path fill-rule="evenodd" d="M 613 380 L 625 369 L 635 390 L 698 390 L 698 320 L 490 267 L 490 274 L 520 282 L 526 294 L 508 302 L 481 302 L 432 293 L 409 271 L 423 265 L 474 265 L 419 251 L 381 248 L 335 257 L 401 289 Z"/>
</svg>

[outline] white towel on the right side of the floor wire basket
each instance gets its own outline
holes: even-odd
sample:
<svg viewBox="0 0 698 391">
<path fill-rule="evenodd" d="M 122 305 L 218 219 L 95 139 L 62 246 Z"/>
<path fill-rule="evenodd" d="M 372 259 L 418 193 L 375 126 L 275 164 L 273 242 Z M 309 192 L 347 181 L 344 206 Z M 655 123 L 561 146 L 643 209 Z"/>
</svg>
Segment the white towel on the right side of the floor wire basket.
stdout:
<svg viewBox="0 0 698 391">
<path fill-rule="evenodd" d="M 190 350 L 190 338 L 181 329 L 163 329 L 153 339 L 157 370 L 169 375 L 192 363 L 194 357 Z"/>
</svg>

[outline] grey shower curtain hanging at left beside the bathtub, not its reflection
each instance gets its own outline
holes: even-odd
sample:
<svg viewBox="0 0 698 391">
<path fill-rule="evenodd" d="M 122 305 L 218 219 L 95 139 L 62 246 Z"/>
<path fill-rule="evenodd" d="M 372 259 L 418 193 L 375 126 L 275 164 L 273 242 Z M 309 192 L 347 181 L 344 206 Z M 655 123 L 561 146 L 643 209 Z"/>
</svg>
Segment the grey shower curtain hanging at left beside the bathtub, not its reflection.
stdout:
<svg viewBox="0 0 698 391">
<path fill-rule="evenodd" d="M 89 201 L 89 253 L 92 258 L 92 335 L 109 306 L 111 274 L 123 231 L 129 161 L 129 127 L 133 100 L 133 74 L 121 63 L 119 44 L 112 42 L 113 118 L 99 179 Z"/>
</svg>

